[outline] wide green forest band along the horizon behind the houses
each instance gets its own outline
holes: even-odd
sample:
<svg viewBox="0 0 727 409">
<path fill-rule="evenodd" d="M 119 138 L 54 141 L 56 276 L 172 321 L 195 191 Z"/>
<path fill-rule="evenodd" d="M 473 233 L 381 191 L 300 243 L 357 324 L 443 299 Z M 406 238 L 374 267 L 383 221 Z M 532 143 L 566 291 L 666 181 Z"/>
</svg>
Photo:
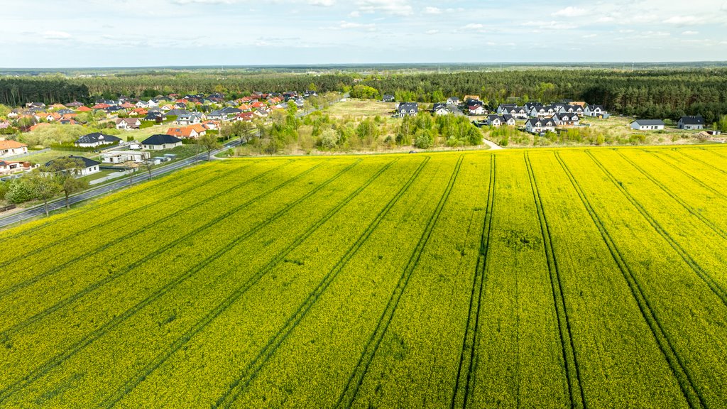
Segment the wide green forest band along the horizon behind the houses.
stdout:
<svg viewBox="0 0 727 409">
<path fill-rule="evenodd" d="M 225 92 L 230 98 L 253 91 L 348 91 L 372 87 L 369 98 L 391 94 L 397 100 L 439 102 L 449 96 L 479 97 L 499 103 L 537 100 L 582 100 L 601 104 L 619 114 L 677 119 L 701 114 L 715 122 L 727 114 L 727 68 L 654 70 L 553 69 L 493 70 L 417 74 L 281 74 L 275 72 L 159 72 L 116 74 L 66 79 L 62 76 L 0 79 L 0 103 L 90 102 L 94 98 L 126 95 L 151 98 L 180 94 Z"/>
</svg>

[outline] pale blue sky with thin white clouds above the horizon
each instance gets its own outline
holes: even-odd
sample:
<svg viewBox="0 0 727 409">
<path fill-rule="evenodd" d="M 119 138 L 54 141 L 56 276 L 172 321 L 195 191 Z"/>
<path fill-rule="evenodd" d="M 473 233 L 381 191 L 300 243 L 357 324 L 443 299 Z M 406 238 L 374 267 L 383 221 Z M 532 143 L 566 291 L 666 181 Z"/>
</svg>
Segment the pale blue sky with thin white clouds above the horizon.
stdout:
<svg viewBox="0 0 727 409">
<path fill-rule="evenodd" d="M 33 0 L 0 67 L 727 60 L 727 0 Z"/>
</svg>

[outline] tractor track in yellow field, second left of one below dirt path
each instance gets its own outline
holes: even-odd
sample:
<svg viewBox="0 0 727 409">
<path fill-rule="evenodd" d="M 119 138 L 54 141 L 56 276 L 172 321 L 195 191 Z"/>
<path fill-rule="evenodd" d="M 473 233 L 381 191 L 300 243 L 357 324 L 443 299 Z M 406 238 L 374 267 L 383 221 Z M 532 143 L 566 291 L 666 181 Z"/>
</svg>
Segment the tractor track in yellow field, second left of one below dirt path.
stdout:
<svg viewBox="0 0 727 409">
<path fill-rule="evenodd" d="M 419 174 L 422 172 L 429 160 L 430 158 L 429 156 L 427 156 L 427 158 L 422 161 L 421 164 L 419 164 L 419 167 L 414 170 L 414 172 L 409 177 L 409 180 L 407 180 L 407 182 L 404 183 L 401 188 L 399 188 L 399 191 L 389 200 L 389 202 L 387 202 L 387 204 L 382 207 L 381 210 L 379 210 L 379 213 L 377 213 L 374 220 L 369 223 L 369 226 L 366 227 L 364 233 L 362 233 L 361 236 L 356 240 L 356 242 L 353 243 L 351 247 L 349 247 L 346 253 L 334 265 L 333 269 L 331 269 L 326 274 L 324 279 L 319 282 L 318 287 L 316 287 L 311 293 L 308 294 L 308 297 L 297 308 L 294 314 L 286 319 L 284 326 L 280 330 L 278 330 L 276 335 L 273 335 L 273 338 L 270 338 L 268 340 L 268 343 L 265 344 L 263 349 L 257 353 L 252 362 L 246 365 L 246 368 L 242 371 L 240 376 L 238 376 L 238 378 L 236 378 L 236 380 L 228 386 L 228 389 L 222 395 L 220 395 L 219 398 L 217 398 L 217 400 L 212 405 L 212 408 L 228 408 L 230 405 L 232 405 L 233 402 L 237 400 L 239 394 L 244 390 L 244 388 L 246 388 L 246 386 L 250 384 L 250 382 L 252 382 L 255 377 L 257 377 L 257 373 L 260 372 L 265 363 L 270 360 L 270 357 L 273 356 L 277 349 L 288 338 L 290 333 L 292 333 L 292 331 L 295 329 L 295 327 L 297 327 L 300 321 L 308 314 L 310 308 L 313 306 L 314 303 L 316 303 L 316 301 L 318 301 L 318 298 L 320 298 L 321 294 L 324 293 L 324 291 L 329 287 L 333 279 L 346 266 L 346 264 L 348 264 L 348 261 L 350 261 L 350 259 L 353 258 L 353 255 L 358 252 L 358 249 L 360 249 L 361 246 L 364 245 L 364 242 L 369 239 L 373 231 L 376 229 L 379 223 L 381 223 L 389 210 L 391 210 L 394 204 L 398 202 L 399 199 L 401 199 L 401 196 L 403 196 L 403 194 L 405 194 L 406 191 L 409 190 L 409 187 L 412 183 L 414 183 L 414 180 L 419 177 Z"/>
</svg>

